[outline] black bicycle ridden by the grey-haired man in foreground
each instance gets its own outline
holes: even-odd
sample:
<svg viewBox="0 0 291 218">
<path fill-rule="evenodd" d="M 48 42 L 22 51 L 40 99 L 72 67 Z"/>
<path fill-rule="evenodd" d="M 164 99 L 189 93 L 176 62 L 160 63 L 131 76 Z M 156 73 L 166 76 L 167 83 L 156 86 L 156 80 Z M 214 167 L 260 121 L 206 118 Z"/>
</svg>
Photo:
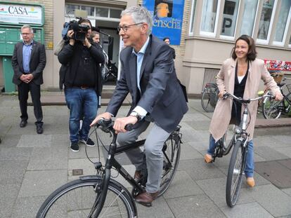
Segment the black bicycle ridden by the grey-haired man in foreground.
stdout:
<svg viewBox="0 0 291 218">
<path fill-rule="evenodd" d="M 115 156 L 125 151 L 140 147 L 145 139 L 117 147 L 117 135 L 112 128 L 111 120 L 98 121 L 94 131 L 101 128 L 112 135 L 105 165 L 100 161 L 93 163 L 96 175 L 79 177 L 68 182 L 51 193 L 41 205 L 37 217 L 137 217 L 135 196 L 145 191 L 146 173 L 138 182 L 129 172 L 120 165 Z M 130 126 L 127 128 L 130 130 Z M 161 196 L 171 184 L 177 170 L 181 152 L 181 126 L 169 135 L 162 152 L 164 154 L 164 166 L 159 195 Z M 97 134 L 97 133 L 96 133 Z M 100 139 L 100 138 L 99 138 Z M 104 145 L 103 145 L 104 146 Z M 100 152 L 99 152 L 100 153 Z M 111 170 L 115 168 L 124 179 L 133 186 L 131 193 L 122 184 L 111 177 Z"/>
</svg>

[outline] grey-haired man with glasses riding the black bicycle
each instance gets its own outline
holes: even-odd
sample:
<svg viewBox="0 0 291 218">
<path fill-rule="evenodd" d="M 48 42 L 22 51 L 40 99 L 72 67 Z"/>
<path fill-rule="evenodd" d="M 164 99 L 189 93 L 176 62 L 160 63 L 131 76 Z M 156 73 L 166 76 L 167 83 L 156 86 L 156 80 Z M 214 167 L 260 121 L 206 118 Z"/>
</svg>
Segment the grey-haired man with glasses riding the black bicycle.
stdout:
<svg viewBox="0 0 291 218">
<path fill-rule="evenodd" d="M 151 205 L 160 189 L 164 141 L 188 110 L 176 77 L 172 50 L 151 34 L 152 26 L 152 16 L 146 8 L 134 6 L 122 11 L 118 30 L 126 48 L 119 55 L 122 64 L 120 79 L 105 113 L 91 123 L 116 116 L 128 93 L 132 97 L 129 114 L 116 118 L 114 124 L 116 132 L 119 132 L 117 142 L 122 145 L 136 141 L 153 121 L 144 152 L 141 149 L 127 152 L 136 166 L 135 179 L 141 177 L 145 154 L 148 169 L 146 192 L 136 196 L 135 200 L 146 206 Z M 127 123 L 136 124 L 136 128 L 127 132 L 124 129 Z"/>
</svg>

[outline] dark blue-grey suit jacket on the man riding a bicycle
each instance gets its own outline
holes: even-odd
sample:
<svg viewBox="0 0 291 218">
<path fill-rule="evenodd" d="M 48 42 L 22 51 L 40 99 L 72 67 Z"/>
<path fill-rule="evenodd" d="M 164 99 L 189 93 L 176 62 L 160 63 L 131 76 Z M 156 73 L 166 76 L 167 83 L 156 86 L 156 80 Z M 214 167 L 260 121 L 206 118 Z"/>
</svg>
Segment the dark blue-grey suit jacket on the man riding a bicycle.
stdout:
<svg viewBox="0 0 291 218">
<path fill-rule="evenodd" d="M 131 47 L 120 53 L 122 71 L 106 111 L 116 116 L 124 98 L 131 94 L 131 112 L 137 105 L 148 111 L 151 118 L 167 132 L 172 132 L 188 111 L 183 91 L 176 77 L 172 50 L 150 35 L 141 64 L 141 98 L 136 84 L 136 55 Z"/>
</svg>

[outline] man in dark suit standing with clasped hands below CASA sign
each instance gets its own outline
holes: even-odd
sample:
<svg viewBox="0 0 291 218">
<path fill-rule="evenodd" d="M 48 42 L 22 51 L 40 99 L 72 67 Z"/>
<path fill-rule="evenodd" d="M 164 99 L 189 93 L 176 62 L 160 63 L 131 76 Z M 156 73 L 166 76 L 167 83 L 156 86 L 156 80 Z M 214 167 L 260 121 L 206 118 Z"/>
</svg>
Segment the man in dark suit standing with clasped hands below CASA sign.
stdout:
<svg viewBox="0 0 291 218">
<path fill-rule="evenodd" d="M 35 122 L 37 133 L 41 134 L 44 129 L 40 85 L 44 83 L 42 71 L 46 66 L 46 50 L 44 45 L 33 40 L 33 29 L 29 25 L 21 27 L 21 35 L 23 41 L 15 45 L 12 56 L 13 83 L 18 86 L 18 100 L 20 102 L 20 128 L 24 128 L 27 125 L 27 99 L 30 91 L 34 116 L 37 118 Z"/>
</svg>

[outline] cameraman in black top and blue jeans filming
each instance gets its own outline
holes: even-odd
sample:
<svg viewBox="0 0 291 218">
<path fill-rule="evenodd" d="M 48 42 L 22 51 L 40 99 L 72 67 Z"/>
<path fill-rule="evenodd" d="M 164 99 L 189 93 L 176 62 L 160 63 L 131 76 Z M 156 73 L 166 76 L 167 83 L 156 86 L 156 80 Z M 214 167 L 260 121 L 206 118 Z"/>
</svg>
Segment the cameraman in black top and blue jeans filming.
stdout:
<svg viewBox="0 0 291 218">
<path fill-rule="evenodd" d="M 96 117 L 98 97 L 101 96 L 101 68 L 104 62 L 102 48 L 90 39 L 91 22 L 80 19 L 72 22 L 67 31 L 65 46 L 58 53 L 58 60 L 67 66 L 65 72 L 65 100 L 70 109 L 70 147 L 79 151 L 78 142 L 94 146 L 88 138 L 90 123 Z M 79 131 L 79 117 L 84 113 L 82 129 Z"/>
</svg>

